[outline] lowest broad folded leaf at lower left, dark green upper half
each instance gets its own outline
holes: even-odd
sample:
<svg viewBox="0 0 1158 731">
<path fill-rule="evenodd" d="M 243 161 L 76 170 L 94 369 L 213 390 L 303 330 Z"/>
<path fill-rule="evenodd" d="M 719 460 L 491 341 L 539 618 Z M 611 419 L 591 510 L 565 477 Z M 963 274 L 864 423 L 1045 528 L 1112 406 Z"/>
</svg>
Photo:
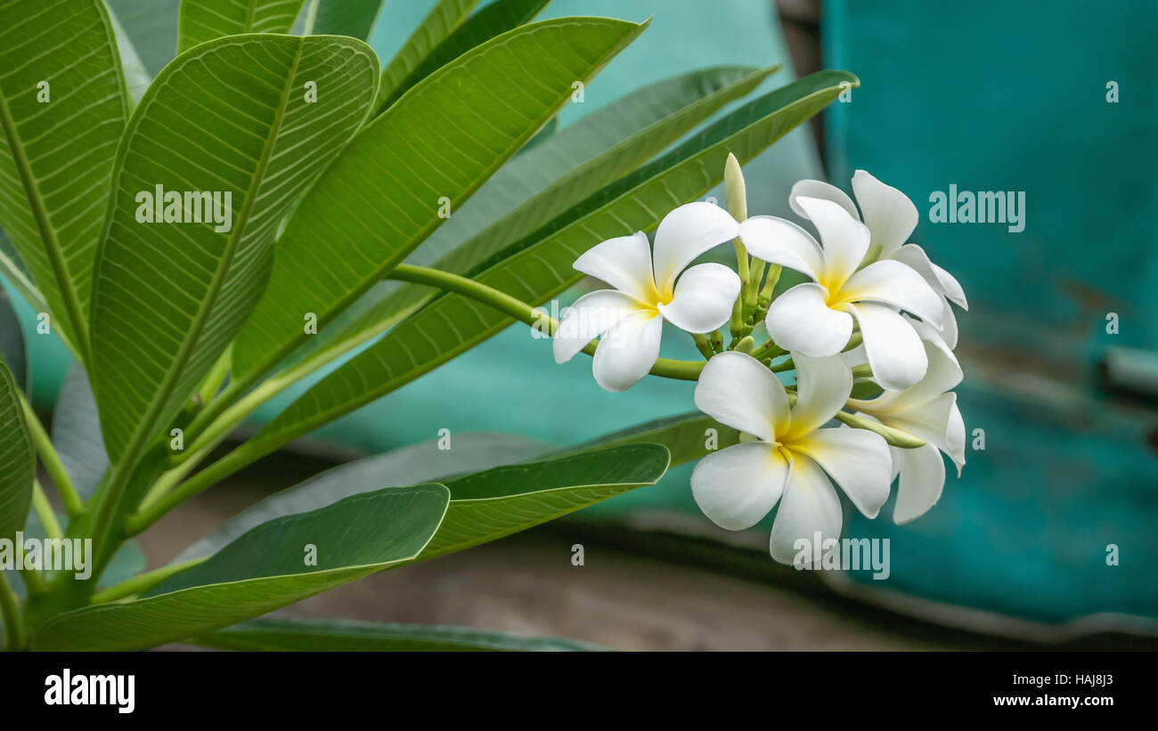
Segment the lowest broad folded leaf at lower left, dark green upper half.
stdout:
<svg viewBox="0 0 1158 731">
<path fill-rule="evenodd" d="M 441 485 L 383 488 L 264 523 L 147 596 L 60 614 L 37 650 L 135 650 L 212 632 L 375 574 L 423 552 L 449 500 Z M 317 548 L 306 564 L 303 546 Z"/>
</svg>

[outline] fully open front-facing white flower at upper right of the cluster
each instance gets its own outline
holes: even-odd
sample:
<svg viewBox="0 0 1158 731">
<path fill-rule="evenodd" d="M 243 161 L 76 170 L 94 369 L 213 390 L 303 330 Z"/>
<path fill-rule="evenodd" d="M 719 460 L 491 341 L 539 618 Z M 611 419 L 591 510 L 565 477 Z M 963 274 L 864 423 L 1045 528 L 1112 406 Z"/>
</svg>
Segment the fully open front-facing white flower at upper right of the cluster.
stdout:
<svg viewBox="0 0 1158 731">
<path fill-rule="evenodd" d="M 772 301 L 764 320 L 768 334 L 793 353 L 835 355 L 848 344 L 856 318 L 881 386 L 899 391 L 921 381 L 928 367 L 925 352 L 897 309 L 940 327 L 940 297 L 900 261 L 875 261 L 858 271 L 870 231 L 842 206 L 804 195 L 796 205 L 820 231 L 823 248 L 796 223 L 776 216 L 754 216 L 740 224 L 740 238 L 752 256 L 813 279 Z"/>
</svg>

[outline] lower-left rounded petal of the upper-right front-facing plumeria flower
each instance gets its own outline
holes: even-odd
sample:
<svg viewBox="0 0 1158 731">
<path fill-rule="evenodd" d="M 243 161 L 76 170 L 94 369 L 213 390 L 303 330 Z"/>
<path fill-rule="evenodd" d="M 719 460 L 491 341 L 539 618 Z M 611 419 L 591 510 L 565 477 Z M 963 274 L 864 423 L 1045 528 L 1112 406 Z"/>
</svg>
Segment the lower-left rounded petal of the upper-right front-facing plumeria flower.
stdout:
<svg viewBox="0 0 1158 731">
<path fill-rule="evenodd" d="M 849 344 L 852 318 L 833 310 L 824 288 L 813 282 L 797 285 L 780 294 L 768 308 L 764 324 L 776 345 L 812 357 L 835 355 Z"/>
</svg>

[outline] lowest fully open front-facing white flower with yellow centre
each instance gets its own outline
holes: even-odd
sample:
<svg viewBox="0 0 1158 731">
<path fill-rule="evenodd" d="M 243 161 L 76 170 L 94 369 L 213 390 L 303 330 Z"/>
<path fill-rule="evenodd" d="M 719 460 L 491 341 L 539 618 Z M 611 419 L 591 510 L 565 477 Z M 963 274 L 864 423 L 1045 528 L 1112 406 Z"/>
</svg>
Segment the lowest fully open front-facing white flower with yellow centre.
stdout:
<svg viewBox="0 0 1158 731">
<path fill-rule="evenodd" d="M 818 531 L 822 545 L 840 537 L 841 501 L 829 478 L 870 518 L 885 504 L 892 482 L 884 438 L 864 429 L 821 429 L 852 390 L 841 356 L 793 353 L 792 359 L 798 391 L 792 408 L 776 375 L 734 350 L 708 361 L 695 396 L 699 411 L 758 440 L 699 460 L 691 473 L 696 503 L 713 523 L 738 531 L 755 525 L 779 501 L 769 548 L 780 563 L 792 563 L 797 541 L 811 544 Z"/>
</svg>

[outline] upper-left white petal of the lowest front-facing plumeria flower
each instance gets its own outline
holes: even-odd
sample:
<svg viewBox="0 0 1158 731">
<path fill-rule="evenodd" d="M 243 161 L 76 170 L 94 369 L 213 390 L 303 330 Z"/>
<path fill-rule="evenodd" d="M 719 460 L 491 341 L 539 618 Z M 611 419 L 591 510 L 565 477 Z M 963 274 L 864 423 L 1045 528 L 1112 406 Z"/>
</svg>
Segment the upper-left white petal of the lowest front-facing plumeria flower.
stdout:
<svg viewBox="0 0 1158 731">
<path fill-rule="evenodd" d="M 708 361 L 696 383 L 696 408 L 733 429 L 765 442 L 789 424 L 789 397 L 776 374 L 745 353 L 730 350 Z"/>
</svg>

